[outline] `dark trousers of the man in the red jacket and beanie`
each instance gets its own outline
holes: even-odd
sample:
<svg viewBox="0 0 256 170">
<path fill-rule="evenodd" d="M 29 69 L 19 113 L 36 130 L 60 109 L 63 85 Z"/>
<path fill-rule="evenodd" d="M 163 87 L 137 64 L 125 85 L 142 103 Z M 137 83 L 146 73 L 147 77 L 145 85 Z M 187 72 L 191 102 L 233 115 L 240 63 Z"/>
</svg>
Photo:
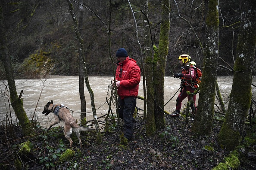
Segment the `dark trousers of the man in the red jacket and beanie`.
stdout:
<svg viewBox="0 0 256 170">
<path fill-rule="evenodd" d="M 118 97 L 118 114 L 119 118 L 122 118 L 125 122 L 124 136 L 128 140 L 132 139 L 132 126 L 133 126 L 133 113 L 136 107 L 136 97 L 125 97 L 121 99 Z"/>
</svg>

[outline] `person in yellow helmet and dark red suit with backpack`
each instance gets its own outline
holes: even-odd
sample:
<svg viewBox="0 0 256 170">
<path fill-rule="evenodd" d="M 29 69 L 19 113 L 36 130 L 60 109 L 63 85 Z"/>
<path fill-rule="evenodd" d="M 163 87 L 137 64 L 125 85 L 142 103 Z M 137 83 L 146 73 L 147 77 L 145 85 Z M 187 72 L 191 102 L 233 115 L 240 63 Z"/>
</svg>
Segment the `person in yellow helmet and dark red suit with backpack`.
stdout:
<svg viewBox="0 0 256 170">
<path fill-rule="evenodd" d="M 180 55 L 179 63 L 181 64 L 181 73 L 174 74 L 174 78 L 180 78 L 181 79 L 181 92 L 178 95 L 176 99 L 176 110 L 172 112 L 170 117 L 176 118 L 180 116 L 181 112 L 181 106 L 182 101 L 187 97 L 188 100 L 190 100 L 190 95 L 187 95 L 186 91 L 190 91 L 193 93 L 197 87 L 195 87 L 196 82 L 196 63 L 194 61 L 191 61 L 190 55 L 184 54 Z M 193 103 L 190 104 L 190 107 L 192 109 L 192 114 L 194 115 L 197 111 L 196 108 L 196 95 L 193 95 Z"/>
</svg>

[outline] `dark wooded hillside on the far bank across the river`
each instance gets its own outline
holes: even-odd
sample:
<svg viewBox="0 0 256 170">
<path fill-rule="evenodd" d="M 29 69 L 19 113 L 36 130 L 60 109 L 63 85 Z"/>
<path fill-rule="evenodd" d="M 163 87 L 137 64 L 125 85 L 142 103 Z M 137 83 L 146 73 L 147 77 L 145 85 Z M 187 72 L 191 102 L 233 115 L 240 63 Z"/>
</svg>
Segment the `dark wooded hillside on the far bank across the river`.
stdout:
<svg viewBox="0 0 256 170">
<path fill-rule="evenodd" d="M 138 25 L 138 36 L 144 52 L 142 32 L 142 12 L 140 0 L 130 0 Z M 149 22 L 152 45 L 158 46 L 161 1 L 149 0 Z M 205 5 L 202 0 L 171 1 L 170 41 L 165 75 L 180 72 L 178 56 L 189 54 L 197 67 L 203 67 L 205 46 Z M 141 67 L 140 47 L 131 9 L 126 0 L 112 0 L 111 54 L 125 48 L 131 58 Z M 78 4 L 73 3 L 78 15 Z M 89 75 L 112 74 L 112 62 L 108 52 L 109 1 L 91 0 L 84 2 L 83 34 L 84 54 Z M 78 40 L 74 22 L 66 0 L 3 0 L 5 25 L 9 54 L 17 79 L 36 78 L 39 75 L 78 75 Z M 240 13 L 238 0 L 219 1 L 219 64 L 218 76 L 232 75 L 234 66 Z M 186 21 L 185 21 L 186 20 Z M 104 22 L 104 24 L 103 24 Z M 191 26 L 191 27 L 190 27 Z M 198 38 L 198 39 L 197 39 Z M 114 58 L 115 59 L 115 58 Z M 5 79 L 3 64 L 0 64 L 0 79 Z"/>
</svg>

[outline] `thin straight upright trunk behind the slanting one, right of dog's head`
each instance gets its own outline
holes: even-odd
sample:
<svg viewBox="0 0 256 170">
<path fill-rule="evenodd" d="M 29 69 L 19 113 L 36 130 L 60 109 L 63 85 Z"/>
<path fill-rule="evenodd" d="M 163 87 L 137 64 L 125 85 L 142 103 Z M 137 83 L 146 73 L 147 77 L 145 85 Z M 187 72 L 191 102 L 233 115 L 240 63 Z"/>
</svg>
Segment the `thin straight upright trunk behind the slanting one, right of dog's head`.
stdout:
<svg viewBox="0 0 256 170">
<path fill-rule="evenodd" d="M 83 4 L 83 0 L 80 0 L 80 3 Z M 83 16 L 84 15 L 84 9 L 83 6 L 79 5 L 79 16 L 78 16 L 78 28 L 80 35 L 82 35 L 83 30 Z M 83 45 L 82 45 L 83 46 Z M 81 100 L 81 124 L 86 123 L 86 100 L 84 96 L 84 52 L 82 52 L 82 49 L 79 50 L 79 96 Z"/>
</svg>

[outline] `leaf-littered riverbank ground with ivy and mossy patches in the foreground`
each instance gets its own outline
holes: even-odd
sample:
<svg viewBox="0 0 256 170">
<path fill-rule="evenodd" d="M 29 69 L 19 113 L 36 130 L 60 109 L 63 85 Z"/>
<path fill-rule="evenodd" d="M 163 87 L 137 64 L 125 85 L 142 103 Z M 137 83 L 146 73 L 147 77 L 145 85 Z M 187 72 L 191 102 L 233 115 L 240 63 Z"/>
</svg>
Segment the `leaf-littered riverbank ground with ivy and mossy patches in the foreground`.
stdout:
<svg viewBox="0 0 256 170">
<path fill-rule="evenodd" d="M 256 167 L 256 125 L 246 125 L 247 135 L 233 152 L 218 145 L 216 136 L 222 122 L 214 121 L 212 134 L 195 137 L 190 133 L 193 121 L 185 124 L 185 117 L 165 117 L 166 127 L 153 137 L 145 136 L 144 121 L 137 118 L 134 140 L 120 143 L 120 127 L 109 120 L 109 131 L 103 132 L 103 143 L 96 143 L 95 133 L 83 133 L 84 149 L 72 134 L 74 147 L 63 134 L 63 127 L 50 131 L 34 127 L 35 134 L 23 137 L 19 125 L 2 125 L 0 139 L 0 168 L 2 170 L 122 170 L 122 169 L 239 169 Z M 14 135 L 8 135 L 13 130 Z M 216 166 L 219 167 L 216 167 Z M 219 169 L 218 169 L 219 168 Z"/>
</svg>

